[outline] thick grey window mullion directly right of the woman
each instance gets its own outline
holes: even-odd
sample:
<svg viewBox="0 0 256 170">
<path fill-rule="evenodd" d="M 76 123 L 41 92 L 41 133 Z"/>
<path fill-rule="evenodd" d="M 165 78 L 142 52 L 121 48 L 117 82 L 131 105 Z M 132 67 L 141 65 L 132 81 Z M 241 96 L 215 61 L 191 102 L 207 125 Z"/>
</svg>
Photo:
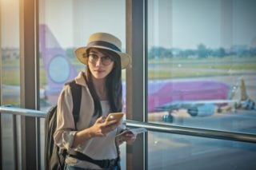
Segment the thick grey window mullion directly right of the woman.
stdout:
<svg viewBox="0 0 256 170">
<path fill-rule="evenodd" d="M 132 68 L 126 69 L 126 118 L 145 121 L 144 0 L 126 0 L 126 51 Z M 126 144 L 126 169 L 145 169 L 145 136 Z M 139 151 L 139 152 L 138 152 Z"/>
</svg>

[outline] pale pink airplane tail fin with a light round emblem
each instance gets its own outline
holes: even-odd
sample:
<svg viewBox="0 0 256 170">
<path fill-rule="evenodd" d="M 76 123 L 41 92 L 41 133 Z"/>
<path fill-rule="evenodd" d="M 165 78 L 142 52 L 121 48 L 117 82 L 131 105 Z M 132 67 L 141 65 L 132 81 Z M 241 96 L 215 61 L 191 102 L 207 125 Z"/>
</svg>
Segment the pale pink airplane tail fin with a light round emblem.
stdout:
<svg viewBox="0 0 256 170">
<path fill-rule="evenodd" d="M 78 74 L 66 55 L 66 51 L 58 44 L 48 26 L 39 26 L 40 53 L 46 71 L 46 97 L 55 96 L 62 90 L 63 85 Z M 55 95 L 54 95 L 55 94 Z M 50 100 L 53 101 L 53 100 Z"/>
</svg>

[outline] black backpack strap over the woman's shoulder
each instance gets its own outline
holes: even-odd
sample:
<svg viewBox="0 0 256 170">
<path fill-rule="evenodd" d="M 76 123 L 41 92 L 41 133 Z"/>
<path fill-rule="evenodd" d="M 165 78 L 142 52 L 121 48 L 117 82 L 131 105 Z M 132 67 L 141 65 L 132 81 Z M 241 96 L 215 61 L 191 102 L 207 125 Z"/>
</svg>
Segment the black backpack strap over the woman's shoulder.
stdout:
<svg viewBox="0 0 256 170">
<path fill-rule="evenodd" d="M 73 117 L 74 117 L 74 126 L 77 129 L 77 123 L 79 119 L 79 112 L 81 106 L 81 97 L 82 97 L 82 86 L 75 83 L 75 81 L 71 81 L 69 83 L 71 93 L 72 93 L 72 101 L 73 101 Z"/>
</svg>

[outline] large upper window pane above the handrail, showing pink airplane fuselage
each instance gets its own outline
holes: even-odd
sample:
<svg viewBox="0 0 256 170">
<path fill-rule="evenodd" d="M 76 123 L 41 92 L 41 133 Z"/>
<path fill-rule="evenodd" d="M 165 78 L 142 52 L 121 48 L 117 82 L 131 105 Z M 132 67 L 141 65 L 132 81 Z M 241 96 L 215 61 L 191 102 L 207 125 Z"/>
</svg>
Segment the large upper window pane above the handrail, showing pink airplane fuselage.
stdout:
<svg viewBox="0 0 256 170">
<path fill-rule="evenodd" d="M 255 133 L 255 1 L 148 1 L 148 119 Z"/>
</svg>

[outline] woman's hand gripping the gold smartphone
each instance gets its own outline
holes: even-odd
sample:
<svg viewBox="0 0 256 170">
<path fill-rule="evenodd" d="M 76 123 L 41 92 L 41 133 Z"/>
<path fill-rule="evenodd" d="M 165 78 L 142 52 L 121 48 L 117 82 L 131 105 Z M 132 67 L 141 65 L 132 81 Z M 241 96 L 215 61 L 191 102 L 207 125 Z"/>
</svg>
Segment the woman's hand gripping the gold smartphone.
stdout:
<svg viewBox="0 0 256 170">
<path fill-rule="evenodd" d="M 106 136 L 107 133 L 118 127 L 120 121 L 105 121 L 106 117 L 99 117 L 94 125 L 90 127 L 93 136 Z"/>
</svg>

